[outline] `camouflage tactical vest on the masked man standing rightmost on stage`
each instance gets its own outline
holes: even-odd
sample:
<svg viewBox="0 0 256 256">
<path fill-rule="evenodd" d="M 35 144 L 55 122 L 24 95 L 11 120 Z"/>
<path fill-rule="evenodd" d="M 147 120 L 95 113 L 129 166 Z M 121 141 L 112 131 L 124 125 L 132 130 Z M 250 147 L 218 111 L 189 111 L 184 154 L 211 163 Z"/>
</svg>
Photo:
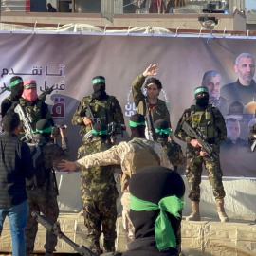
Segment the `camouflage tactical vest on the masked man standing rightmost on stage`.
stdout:
<svg viewBox="0 0 256 256">
<path fill-rule="evenodd" d="M 192 105 L 191 124 L 192 128 L 198 129 L 210 140 L 218 136 L 218 133 L 214 128 L 214 115 L 211 104 L 209 104 L 206 109 L 201 109 L 196 105 Z"/>
</svg>

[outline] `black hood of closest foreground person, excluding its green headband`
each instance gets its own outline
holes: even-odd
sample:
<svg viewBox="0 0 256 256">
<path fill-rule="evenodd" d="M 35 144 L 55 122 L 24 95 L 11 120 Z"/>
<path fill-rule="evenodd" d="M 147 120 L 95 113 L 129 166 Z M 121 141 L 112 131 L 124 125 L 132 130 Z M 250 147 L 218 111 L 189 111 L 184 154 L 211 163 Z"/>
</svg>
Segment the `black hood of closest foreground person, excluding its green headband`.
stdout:
<svg viewBox="0 0 256 256">
<path fill-rule="evenodd" d="M 167 196 L 175 195 L 182 198 L 185 193 L 185 184 L 182 177 L 170 169 L 152 166 L 145 167 L 132 175 L 129 190 L 131 195 L 140 200 L 158 204 L 162 198 Z M 158 213 L 159 210 L 130 210 L 130 218 L 135 227 L 135 241 L 131 243 L 130 249 L 124 252 L 123 256 L 177 255 L 176 248 L 159 251 L 155 245 L 155 219 Z M 169 213 L 167 215 L 176 234 L 181 217 L 176 218 Z"/>
</svg>

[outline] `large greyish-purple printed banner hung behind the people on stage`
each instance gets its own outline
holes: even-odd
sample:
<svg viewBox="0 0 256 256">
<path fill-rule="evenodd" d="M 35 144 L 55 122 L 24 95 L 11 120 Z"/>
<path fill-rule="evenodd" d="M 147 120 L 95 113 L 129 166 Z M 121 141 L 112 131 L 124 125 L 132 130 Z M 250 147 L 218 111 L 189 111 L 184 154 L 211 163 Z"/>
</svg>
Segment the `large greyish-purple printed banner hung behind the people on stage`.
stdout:
<svg viewBox="0 0 256 256">
<path fill-rule="evenodd" d="M 159 64 L 156 78 L 163 84 L 160 98 L 169 105 L 175 130 L 183 111 L 192 104 L 193 89 L 201 84 L 204 73 L 218 71 L 222 85 L 235 82 L 237 74 L 233 65 L 242 52 L 256 56 L 255 41 L 212 36 L 1 33 L 0 100 L 9 96 L 6 87 L 15 75 L 24 80 L 35 80 L 38 94 L 55 84 L 46 103 L 55 123 L 68 126 L 68 146 L 74 160 L 82 137 L 78 133 L 79 127 L 71 124 L 71 118 L 82 97 L 92 93 L 91 79 L 94 76 L 106 78 L 106 91 L 118 98 L 128 127 L 128 119 L 136 111 L 131 82 L 149 64 Z M 252 104 L 255 96 L 256 92 L 251 95 Z M 255 105 L 252 109 L 240 121 L 240 137 L 243 139 L 247 138 L 248 121 L 255 117 Z M 185 153 L 185 143 L 175 140 Z M 255 153 L 249 149 L 243 149 L 242 153 L 238 149 L 238 152 L 239 155 L 235 152 L 224 157 L 224 175 L 255 177 Z M 183 174 L 184 166 L 179 171 Z"/>
</svg>

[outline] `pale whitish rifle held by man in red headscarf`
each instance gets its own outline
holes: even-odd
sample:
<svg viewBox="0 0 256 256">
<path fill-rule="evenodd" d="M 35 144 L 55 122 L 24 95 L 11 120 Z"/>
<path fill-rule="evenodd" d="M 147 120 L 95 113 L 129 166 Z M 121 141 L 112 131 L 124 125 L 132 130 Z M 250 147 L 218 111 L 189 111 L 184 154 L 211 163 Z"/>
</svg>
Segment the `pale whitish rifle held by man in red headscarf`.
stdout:
<svg viewBox="0 0 256 256">
<path fill-rule="evenodd" d="M 22 125 L 25 128 L 25 136 L 22 137 L 21 140 L 27 139 L 27 141 L 30 141 L 33 138 L 33 129 L 31 126 L 33 119 L 31 115 L 25 111 L 20 104 L 14 108 L 14 112 L 19 115 Z"/>
</svg>

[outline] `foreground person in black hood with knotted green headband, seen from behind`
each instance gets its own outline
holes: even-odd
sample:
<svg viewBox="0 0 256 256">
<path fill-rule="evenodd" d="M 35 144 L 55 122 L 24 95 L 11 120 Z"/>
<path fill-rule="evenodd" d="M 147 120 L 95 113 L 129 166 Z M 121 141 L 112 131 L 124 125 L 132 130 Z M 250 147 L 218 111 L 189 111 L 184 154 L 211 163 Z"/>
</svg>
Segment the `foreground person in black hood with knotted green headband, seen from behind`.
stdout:
<svg viewBox="0 0 256 256">
<path fill-rule="evenodd" d="M 185 193 L 181 176 L 165 167 L 146 167 L 132 175 L 130 193 L 135 241 L 122 256 L 178 255 Z"/>
</svg>

